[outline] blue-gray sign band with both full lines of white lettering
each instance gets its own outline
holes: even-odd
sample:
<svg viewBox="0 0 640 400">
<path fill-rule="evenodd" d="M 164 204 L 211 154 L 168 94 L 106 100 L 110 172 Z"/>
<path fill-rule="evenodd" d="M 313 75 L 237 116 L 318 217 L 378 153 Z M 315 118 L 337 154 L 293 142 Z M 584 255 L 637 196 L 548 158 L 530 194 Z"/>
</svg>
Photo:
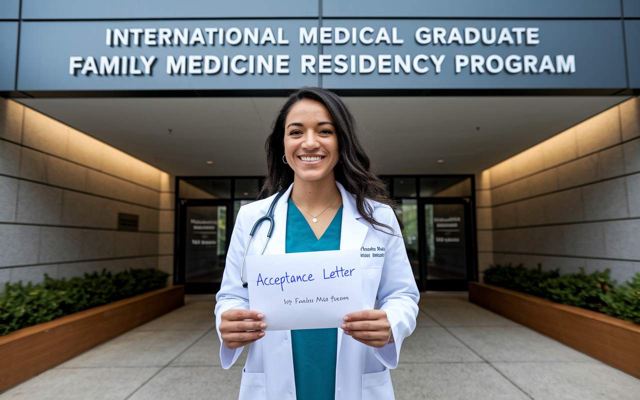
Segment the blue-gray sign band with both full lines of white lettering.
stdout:
<svg viewBox="0 0 640 400">
<path fill-rule="evenodd" d="M 18 89 L 624 88 L 620 20 L 24 22 Z"/>
</svg>

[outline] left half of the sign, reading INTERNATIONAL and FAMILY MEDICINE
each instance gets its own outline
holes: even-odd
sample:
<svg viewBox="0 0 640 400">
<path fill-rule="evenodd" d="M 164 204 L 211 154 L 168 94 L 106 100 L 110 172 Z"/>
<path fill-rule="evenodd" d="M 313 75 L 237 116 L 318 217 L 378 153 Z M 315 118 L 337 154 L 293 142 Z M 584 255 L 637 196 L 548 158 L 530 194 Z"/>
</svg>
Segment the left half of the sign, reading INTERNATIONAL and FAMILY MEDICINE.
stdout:
<svg viewBox="0 0 640 400">
<path fill-rule="evenodd" d="M 23 22 L 18 88 L 218 90 L 317 84 L 317 77 L 300 74 L 307 49 L 298 41 L 300 26 L 315 24 L 300 19 Z"/>
</svg>

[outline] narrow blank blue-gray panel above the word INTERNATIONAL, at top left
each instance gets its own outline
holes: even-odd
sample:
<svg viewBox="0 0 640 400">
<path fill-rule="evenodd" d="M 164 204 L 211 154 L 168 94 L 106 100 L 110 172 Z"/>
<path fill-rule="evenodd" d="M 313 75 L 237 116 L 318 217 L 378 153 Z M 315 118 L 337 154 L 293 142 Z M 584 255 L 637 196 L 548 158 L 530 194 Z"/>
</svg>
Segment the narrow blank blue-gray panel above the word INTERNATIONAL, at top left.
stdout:
<svg viewBox="0 0 640 400">
<path fill-rule="evenodd" d="M 317 0 L 22 0 L 23 19 L 300 18 L 317 16 Z"/>
</svg>

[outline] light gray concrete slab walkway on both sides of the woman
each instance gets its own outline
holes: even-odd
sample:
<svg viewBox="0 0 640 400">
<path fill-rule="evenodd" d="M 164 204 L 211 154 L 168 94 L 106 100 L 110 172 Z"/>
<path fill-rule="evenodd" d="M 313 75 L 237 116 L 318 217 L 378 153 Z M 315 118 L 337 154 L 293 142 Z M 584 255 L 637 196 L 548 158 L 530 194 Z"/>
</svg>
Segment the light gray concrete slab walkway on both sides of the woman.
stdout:
<svg viewBox="0 0 640 400">
<path fill-rule="evenodd" d="M 214 298 L 187 305 L 0 394 L 0 400 L 237 399 L 244 357 L 225 371 Z M 246 351 L 243 352 L 246 356 Z M 467 301 L 429 293 L 391 373 L 399 400 L 638 399 L 640 380 Z"/>
</svg>

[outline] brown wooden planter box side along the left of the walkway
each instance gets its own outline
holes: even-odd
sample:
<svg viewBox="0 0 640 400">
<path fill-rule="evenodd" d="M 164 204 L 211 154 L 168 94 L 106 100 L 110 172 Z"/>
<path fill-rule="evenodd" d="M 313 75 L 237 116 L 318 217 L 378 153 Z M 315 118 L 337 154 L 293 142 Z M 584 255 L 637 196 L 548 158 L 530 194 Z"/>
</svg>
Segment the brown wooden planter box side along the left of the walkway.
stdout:
<svg viewBox="0 0 640 400">
<path fill-rule="evenodd" d="M 165 287 L 0 336 L 0 392 L 182 305 Z"/>
</svg>

